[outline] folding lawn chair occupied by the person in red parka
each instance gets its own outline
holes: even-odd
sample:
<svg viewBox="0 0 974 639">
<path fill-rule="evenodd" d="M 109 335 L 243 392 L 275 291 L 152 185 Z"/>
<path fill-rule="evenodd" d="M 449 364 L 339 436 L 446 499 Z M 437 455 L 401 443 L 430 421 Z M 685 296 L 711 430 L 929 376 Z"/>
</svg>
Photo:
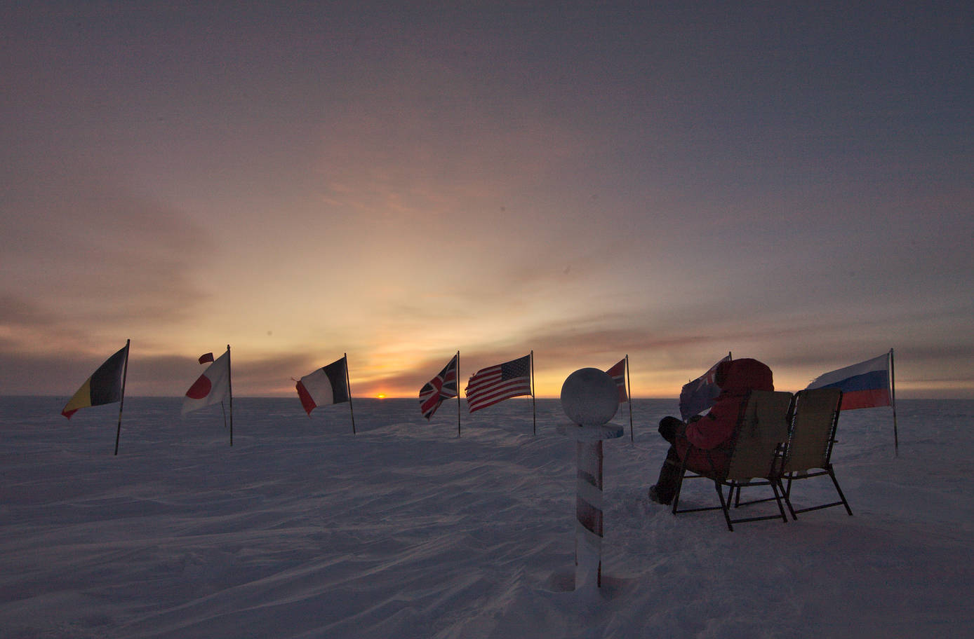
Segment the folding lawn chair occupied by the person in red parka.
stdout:
<svg viewBox="0 0 974 639">
<path fill-rule="evenodd" d="M 751 391 L 744 403 L 734 427 L 731 437 L 731 464 L 726 474 L 712 476 L 707 474 L 688 475 L 687 464 L 684 461 L 680 470 L 680 482 L 676 494 L 673 496 L 673 514 L 693 513 L 697 511 L 724 512 L 728 529 L 733 530 L 734 523 L 743 521 L 759 521 L 781 517 L 788 521 L 784 507 L 781 504 L 782 495 L 778 493 L 781 486 L 781 450 L 788 441 L 788 421 L 791 416 L 792 394 L 774 391 Z M 689 454 L 687 455 L 689 457 Z M 686 457 L 685 457 L 686 459 Z M 714 482 L 720 506 L 703 508 L 689 508 L 678 510 L 680 490 L 684 479 L 706 478 Z M 729 488 L 727 497 L 724 487 Z M 740 492 L 743 486 L 770 486 L 774 493 L 774 501 L 778 506 L 779 515 L 757 515 L 750 517 L 731 518 L 731 496 L 734 489 Z M 768 498 L 768 501 L 771 498 Z"/>
</svg>

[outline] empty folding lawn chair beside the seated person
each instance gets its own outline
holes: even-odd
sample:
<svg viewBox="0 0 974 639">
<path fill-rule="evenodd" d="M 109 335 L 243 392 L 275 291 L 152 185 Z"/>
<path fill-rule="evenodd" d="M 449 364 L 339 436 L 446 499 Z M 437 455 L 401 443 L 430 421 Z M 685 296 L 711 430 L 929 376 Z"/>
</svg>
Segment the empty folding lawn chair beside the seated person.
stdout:
<svg viewBox="0 0 974 639">
<path fill-rule="evenodd" d="M 836 429 L 839 426 L 839 410 L 842 405 L 843 392 L 838 388 L 815 388 L 799 391 L 795 395 L 795 412 L 781 469 L 781 479 L 788 480 L 782 489 L 785 503 L 788 504 L 793 519 L 798 518 L 797 513 L 839 505 L 844 506 L 845 512 L 852 515 L 852 509 L 845 501 L 843 489 L 839 487 L 839 480 L 836 479 L 831 461 L 832 446 L 836 443 Z M 828 475 L 832 479 L 840 501 L 796 510 L 791 502 L 792 482 L 823 475 Z"/>
</svg>

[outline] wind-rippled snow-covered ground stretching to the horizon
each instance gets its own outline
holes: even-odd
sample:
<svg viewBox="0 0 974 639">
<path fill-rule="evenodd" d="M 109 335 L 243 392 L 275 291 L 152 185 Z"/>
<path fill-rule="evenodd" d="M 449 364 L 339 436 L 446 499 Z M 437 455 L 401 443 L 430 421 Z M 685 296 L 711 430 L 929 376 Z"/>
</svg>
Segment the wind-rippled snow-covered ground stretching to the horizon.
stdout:
<svg viewBox="0 0 974 639">
<path fill-rule="evenodd" d="M 572 589 L 574 444 L 557 400 L 430 424 L 413 400 L 318 408 L 128 398 L 70 422 L 0 398 L 0 637 L 968 637 L 974 402 L 843 413 L 854 516 L 671 515 L 650 504 L 675 401 L 605 444 L 604 587 Z M 829 499 L 828 479 L 796 484 Z M 712 500 L 689 487 L 684 500 Z M 752 507 L 753 508 L 753 507 Z M 764 506 L 758 507 L 764 508 Z M 773 508 L 773 506 L 771 507 Z"/>
</svg>

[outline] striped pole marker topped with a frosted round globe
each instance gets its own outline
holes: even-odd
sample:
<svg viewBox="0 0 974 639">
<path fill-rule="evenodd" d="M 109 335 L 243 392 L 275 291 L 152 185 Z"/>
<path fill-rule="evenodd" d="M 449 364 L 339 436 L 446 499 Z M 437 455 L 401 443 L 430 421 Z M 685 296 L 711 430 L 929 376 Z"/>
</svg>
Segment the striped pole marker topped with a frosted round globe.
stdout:
<svg viewBox="0 0 974 639">
<path fill-rule="evenodd" d="M 573 426 L 559 427 L 576 440 L 575 587 L 602 581 L 602 441 L 622 436 L 621 426 L 607 425 L 618 410 L 618 387 L 611 375 L 580 369 L 561 387 L 561 408 Z"/>
</svg>

